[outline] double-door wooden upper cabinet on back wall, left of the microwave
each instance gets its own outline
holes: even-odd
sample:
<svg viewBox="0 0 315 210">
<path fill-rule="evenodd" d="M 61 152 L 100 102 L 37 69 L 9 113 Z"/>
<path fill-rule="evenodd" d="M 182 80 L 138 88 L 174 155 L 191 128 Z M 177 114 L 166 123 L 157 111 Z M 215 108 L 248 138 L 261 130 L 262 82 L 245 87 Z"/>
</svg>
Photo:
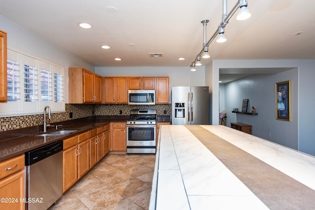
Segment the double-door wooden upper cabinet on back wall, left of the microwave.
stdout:
<svg viewBox="0 0 315 210">
<path fill-rule="evenodd" d="M 127 77 L 104 77 L 103 103 L 127 103 Z"/>
</svg>

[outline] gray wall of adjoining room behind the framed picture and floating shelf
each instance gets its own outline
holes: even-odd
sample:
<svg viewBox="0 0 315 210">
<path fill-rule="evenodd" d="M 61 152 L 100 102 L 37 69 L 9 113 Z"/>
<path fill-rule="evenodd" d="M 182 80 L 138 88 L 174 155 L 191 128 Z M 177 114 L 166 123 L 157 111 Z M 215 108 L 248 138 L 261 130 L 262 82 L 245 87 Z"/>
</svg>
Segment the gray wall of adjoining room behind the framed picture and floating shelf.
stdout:
<svg viewBox="0 0 315 210">
<path fill-rule="evenodd" d="M 291 80 L 290 122 L 276 120 L 275 83 L 288 80 Z M 224 108 L 228 111 L 227 126 L 230 122 L 250 124 L 252 135 L 298 150 L 298 69 L 254 75 L 221 85 L 220 90 L 223 90 L 220 101 L 224 98 Z M 231 113 L 233 108 L 241 111 L 243 99 L 249 99 L 248 112 L 254 106 L 257 116 Z"/>
</svg>

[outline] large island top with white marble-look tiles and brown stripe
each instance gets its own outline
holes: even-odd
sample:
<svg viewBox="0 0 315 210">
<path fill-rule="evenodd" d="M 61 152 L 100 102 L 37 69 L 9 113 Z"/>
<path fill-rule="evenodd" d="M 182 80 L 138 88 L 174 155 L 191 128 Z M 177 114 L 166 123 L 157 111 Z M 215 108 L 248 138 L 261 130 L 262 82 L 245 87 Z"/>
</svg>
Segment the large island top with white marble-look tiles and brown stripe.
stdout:
<svg viewBox="0 0 315 210">
<path fill-rule="evenodd" d="M 315 209 L 314 178 L 314 156 L 222 125 L 162 125 L 149 209 Z"/>
</svg>

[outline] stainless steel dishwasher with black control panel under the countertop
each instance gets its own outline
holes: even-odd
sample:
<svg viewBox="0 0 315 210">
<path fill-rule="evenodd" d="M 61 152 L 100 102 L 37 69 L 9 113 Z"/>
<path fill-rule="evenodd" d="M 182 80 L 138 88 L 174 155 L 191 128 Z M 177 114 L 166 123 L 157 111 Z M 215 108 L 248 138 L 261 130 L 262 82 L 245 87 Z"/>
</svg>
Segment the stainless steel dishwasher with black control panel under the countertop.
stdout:
<svg viewBox="0 0 315 210">
<path fill-rule="evenodd" d="M 63 195 L 63 141 L 25 153 L 26 210 L 47 210 Z"/>
</svg>

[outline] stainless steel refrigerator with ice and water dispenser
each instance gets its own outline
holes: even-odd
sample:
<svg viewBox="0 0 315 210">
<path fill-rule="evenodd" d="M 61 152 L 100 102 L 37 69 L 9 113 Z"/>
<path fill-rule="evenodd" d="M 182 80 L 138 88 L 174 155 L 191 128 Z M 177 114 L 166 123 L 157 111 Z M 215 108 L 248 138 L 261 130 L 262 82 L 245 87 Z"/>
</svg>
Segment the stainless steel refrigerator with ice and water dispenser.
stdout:
<svg viewBox="0 0 315 210">
<path fill-rule="evenodd" d="M 209 124 L 209 87 L 172 87 L 172 124 Z"/>
</svg>

